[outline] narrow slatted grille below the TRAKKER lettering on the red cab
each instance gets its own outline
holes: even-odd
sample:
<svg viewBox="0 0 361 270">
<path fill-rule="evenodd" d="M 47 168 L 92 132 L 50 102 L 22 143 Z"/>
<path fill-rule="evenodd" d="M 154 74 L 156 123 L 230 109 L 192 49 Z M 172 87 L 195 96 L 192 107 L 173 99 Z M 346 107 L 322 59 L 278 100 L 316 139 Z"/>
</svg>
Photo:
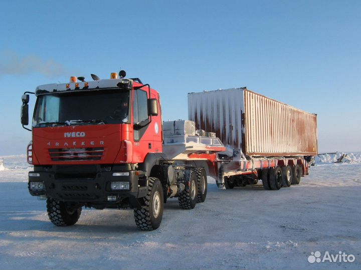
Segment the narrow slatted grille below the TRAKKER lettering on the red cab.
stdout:
<svg viewBox="0 0 361 270">
<path fill-rule="evenodd" d="M 100 160 L 103 153 L 104 147 L 49 149 L 52 161 Z"/>
</svg>

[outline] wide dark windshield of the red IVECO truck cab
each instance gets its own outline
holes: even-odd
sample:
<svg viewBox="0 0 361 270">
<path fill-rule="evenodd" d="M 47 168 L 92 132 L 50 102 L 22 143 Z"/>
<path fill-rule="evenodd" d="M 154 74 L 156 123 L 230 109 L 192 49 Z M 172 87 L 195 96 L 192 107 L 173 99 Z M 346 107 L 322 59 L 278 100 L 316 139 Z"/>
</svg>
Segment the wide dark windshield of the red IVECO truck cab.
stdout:
<svg viewBox="0 0 361 270">
<path fill-rule="evenodd" d="M 45 94 L 38 97 L 33 126 L 124 123 L 128 121 L 129 90 Z"/>
</svg>

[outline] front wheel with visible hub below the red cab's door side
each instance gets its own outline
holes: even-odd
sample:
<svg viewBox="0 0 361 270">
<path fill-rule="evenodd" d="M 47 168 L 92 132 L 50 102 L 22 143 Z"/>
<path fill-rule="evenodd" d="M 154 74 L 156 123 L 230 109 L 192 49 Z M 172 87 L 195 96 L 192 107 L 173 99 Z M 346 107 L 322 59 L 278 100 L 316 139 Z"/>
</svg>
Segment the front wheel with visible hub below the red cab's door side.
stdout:
<svg viewBox="0 0 361 270">
<path fill-rule="evenodd" d="M 141 230 L 153 230 L 159 227 L 163 216 L 163 189 L 160 180 L 148 177 L 148 192 L 141 208 L 134 209 L 135 224 Z"/>
</svg>

